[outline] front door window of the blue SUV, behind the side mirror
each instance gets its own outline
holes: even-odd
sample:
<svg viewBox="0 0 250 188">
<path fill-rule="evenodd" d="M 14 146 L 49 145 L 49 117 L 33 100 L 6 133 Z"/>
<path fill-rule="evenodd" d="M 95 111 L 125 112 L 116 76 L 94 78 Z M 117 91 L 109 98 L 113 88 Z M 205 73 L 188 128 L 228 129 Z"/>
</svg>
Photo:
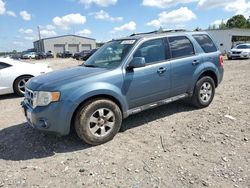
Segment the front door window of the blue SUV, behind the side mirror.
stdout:
<svg viewBox="0 0 250 188">
<path fill-rule="evenodd" d="M 146 64 L 164 61 L 165 46 L 162 39 L 154 39 L 144 42 L 134 53 L 134 57 L 144 57 Z"/>
</svg>

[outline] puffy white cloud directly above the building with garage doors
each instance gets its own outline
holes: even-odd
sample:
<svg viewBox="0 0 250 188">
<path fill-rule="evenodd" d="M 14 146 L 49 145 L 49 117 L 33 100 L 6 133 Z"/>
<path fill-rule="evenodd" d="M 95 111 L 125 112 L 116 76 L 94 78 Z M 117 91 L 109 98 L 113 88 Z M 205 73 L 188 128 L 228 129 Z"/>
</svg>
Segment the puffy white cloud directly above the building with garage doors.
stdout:
<svg viewBox="0 0 250 188">
<path fill-rule="evenodd" d="M 69 30 L 71 25 L 82 25 L 86 22 L 86 17 L 81 14 L 68 14 L 63 17 L 53 18 L 53 23 L 55 26 L 63 29 Z"/>
</svg>

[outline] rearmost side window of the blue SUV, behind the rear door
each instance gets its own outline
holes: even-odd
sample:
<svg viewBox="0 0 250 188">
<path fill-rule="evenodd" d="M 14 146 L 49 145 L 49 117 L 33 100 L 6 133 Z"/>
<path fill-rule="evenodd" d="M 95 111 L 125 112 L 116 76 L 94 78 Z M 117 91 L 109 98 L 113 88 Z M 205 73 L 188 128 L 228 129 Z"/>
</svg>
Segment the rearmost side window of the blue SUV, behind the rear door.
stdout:
<svg viewBox="0 0 250 188">
<path fill-rule="evenodd" d="M 212 39 L 205 34 L 201 35 L 193 35 L 194 39 L 198 42 L 201 48 L 204 50 L 205 53 L 216 52 L 217 48 L 212 41 Z"/>
</svg>

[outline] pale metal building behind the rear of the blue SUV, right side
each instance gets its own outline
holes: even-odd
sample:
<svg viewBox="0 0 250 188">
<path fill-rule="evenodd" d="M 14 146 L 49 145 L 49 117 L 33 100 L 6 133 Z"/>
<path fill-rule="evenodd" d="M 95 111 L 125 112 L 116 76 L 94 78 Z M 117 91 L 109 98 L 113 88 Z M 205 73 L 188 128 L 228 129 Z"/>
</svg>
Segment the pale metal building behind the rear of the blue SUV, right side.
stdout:
<svg viewBox="0 0 250 188">
<path fill-rule="evenodd" d="M 245 37 L 250 39 L 250 29 L 225 29 L 225 30 L 206 30 L 214 41 L 217 43 L 221 52 L 228 52 L 235 42 L 233 38 L 235 37 Z M 247 40 L 238 41 L 238 43 L 249 42 Z"/>
</svg>

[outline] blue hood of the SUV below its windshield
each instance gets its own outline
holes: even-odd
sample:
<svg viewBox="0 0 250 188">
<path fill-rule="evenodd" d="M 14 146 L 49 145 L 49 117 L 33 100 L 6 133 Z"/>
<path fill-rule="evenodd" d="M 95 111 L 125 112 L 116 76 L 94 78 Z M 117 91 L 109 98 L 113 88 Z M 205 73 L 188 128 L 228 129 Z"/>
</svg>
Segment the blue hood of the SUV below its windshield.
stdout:
<svg viewBox="0 0 250 188">
<path fill-rule="evenodd" d="M 84 66 L 72 67 L 34 77 L 27 83 L 27 87 L 33 91 L 50 91 L 60 87 L 61 85 L 72 83 L 79 79 L 99 75 L 107 71 L 107 69 L 103 68 L 91 68 Z"/>
</svg>

